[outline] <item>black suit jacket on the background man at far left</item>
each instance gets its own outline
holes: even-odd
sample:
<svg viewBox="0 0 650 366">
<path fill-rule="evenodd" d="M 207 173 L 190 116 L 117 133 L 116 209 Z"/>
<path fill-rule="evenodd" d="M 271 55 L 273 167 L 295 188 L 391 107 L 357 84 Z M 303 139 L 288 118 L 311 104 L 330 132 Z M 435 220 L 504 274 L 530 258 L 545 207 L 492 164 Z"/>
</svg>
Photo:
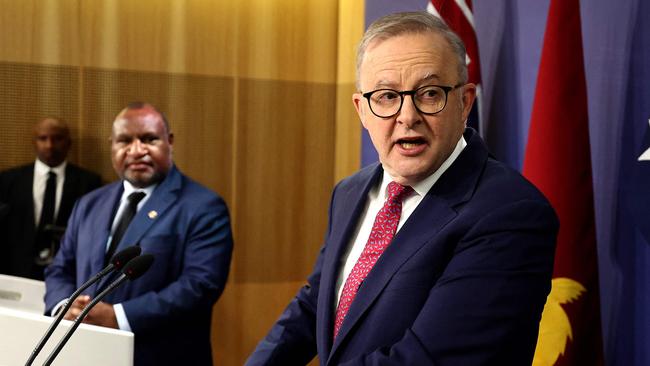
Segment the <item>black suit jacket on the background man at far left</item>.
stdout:
<svg viewBox="0 0 650 366">
<path fill-rule="evenodd" d="M 32 195 L 34 164 L 0 173 L 0 273 L 43 279 L 34 264 L 36 224 Z M 77 199 L 101 186 L 99 175 L 68 163 L 55 225 L 64 227 Z M 4 218 L 3 218 L 4 216 Z"/>
</svg>

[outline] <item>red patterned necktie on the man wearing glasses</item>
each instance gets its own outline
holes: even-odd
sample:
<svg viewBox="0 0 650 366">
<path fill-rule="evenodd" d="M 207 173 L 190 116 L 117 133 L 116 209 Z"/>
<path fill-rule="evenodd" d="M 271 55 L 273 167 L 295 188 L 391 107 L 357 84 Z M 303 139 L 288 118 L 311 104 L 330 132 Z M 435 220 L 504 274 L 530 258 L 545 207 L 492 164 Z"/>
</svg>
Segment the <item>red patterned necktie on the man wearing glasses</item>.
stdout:
<svg viewBox="0 0 650 366">
<path fill-rule="evenodd" d="M 345 280 L 345 285 L 343 285 L 341 299 L 336 308 L 334 338 L 339 334 L 343 319 L 350 310 L 350 305 L 352 305 L 352 301 L 359 291 L 359 286 L 368 276 L 368 273 L 386 250 L 391 240 L 393 240 L 399 218 L 402 215 L 402 200 L 411 192 L 413 192 L 413 188 L 409 186 L 403 186 L 395 182 L 388 184 L 388 198 L 384 202 L 384 207 L 377 213 L 368 242 L 347 280 Z"/>
</svg>

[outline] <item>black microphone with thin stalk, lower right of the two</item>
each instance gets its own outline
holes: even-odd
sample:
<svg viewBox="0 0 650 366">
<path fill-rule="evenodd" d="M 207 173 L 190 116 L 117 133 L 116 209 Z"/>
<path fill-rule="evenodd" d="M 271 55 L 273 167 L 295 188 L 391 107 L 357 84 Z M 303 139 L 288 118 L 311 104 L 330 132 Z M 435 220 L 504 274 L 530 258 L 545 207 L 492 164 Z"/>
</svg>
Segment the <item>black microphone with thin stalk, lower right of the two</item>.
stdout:
<svg viewBox="0 0 650 366">
<path fill-rule="evenodd" d="M 81 322 L 84 320 L 86 315 L 88 315 L 88 312 L 90 312 L 90 309 L 92 309 L 95 305 L 97 305 L 98 302 L 100 302 L 106 295 L 108 295 L 109 292 L 113 291 L 115 288 L 123 284 L 126 280 L 135 280 L 136 278 L 142 276 L 149 267 L 151 267 L 151 264 L 153 263 L 153 255 L 151 254 L 143 254 L 139 257 L 133 258 L 129 263 L 127 263 L 124 266 L 124 269 L 122 269 L 122 275 L 113 283 L 111 283 L 104 291 L 102 291 L 99 295 L 97 295 L 84 309 L 83 311 L 79 314 L 77 319 L 74 320 L 74 324 L 72 324 L 72 327 L 68 329 L 68 331 L 65 333 L 63 338 L 59 341 L 59 343 L 56 345 L 52 353 L 47 357 L 47 360 L 45 360 L 45 363 L 43 364 L 44 366 L 49 366 L 52 364 L 56 356 L 61 352 L 61 349 L 63 349 L 63 346 L 68 342 L 68 339 L 72 336 L 72 334 L 77 330 Z"/>
</svg>

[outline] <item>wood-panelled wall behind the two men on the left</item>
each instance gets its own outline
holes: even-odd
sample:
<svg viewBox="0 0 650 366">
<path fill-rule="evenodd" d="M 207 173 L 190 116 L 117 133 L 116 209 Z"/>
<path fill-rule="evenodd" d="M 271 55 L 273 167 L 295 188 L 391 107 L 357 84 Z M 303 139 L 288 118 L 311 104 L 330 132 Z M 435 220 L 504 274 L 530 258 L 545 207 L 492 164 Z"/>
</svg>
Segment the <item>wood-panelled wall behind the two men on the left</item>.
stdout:
<svg viewBox="0 0 650 366">
<path fill-rule="evenodd" d="M 0 169 L 64 118 L 70 160 L 116 179 L 108 136 L 145 100 L 180 169 L 219 192 L 235 251 L 215 306 L 216 364 L 240 365 L 304 284 L 336 181 L 359 165 L 351 103 L 358 0 L 0 0 Z"/>
</svg>

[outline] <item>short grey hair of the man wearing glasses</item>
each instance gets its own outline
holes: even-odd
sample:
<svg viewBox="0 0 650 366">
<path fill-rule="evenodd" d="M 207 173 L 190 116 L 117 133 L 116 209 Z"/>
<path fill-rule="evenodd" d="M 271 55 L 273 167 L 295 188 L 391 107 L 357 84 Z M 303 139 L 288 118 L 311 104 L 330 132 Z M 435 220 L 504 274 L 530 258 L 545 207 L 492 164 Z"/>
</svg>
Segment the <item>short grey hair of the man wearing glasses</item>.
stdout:
<svg viewBox="0 0 650 366">
<path fill-rule="evenodd" d="M 467 64 L 465 63 L 465 44 L 440 18 L 427 12 L 394 13 L 381 17 L 368 27 L 357 49 L 357 88 L 359 88 L 361 63 L 368 45 L 374 41 L 385 41 L 403 34 L 434 33 L 447 40 L 451 50 L 457 56 L 458 76 L 461 83 L 467 82 Z M 359 89 L 360 90 L 360 89 Z"/>
</svg>

